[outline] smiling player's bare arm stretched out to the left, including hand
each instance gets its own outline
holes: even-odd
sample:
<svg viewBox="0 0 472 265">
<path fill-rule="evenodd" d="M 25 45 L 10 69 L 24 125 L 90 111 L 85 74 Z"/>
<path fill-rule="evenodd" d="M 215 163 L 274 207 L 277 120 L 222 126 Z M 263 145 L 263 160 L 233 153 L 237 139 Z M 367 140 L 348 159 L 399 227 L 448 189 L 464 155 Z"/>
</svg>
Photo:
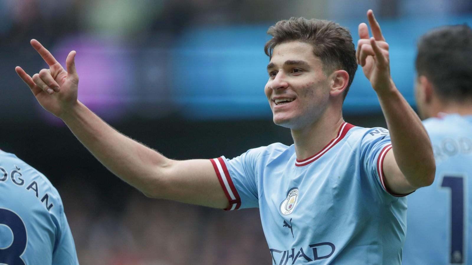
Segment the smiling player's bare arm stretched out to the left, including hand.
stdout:
<svg viewBox="0 0 472 265">
<path fill-rule="evenodd" d="M 172 160 L 116 131 L 77 100 L 76 52 L 71 51 L 67 56 L 66 71 L 38 41 L 32 40 L 31 44 L 50 69 L 30 77 L 17 66 L 17 74 L 41 106 L 62 119 L 113 174 L 148 197 L 228 207 L 228 199 L 210 160 Z"/>
</svg>

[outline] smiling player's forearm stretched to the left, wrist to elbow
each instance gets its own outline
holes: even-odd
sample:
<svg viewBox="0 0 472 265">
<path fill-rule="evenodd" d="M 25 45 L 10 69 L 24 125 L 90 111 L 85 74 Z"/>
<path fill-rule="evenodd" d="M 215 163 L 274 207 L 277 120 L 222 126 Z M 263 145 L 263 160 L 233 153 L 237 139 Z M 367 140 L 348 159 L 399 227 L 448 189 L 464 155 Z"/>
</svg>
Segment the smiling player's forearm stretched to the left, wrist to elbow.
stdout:
<svg viewBox="0 0 472 265">
<path fill-rule="evenodd" d="M 157 173 L 171 161 L 126 137 L 77 101 L 61 117 L 77 139 L 113 174 L 145 194 L 156 192 Z"/>
</svg>

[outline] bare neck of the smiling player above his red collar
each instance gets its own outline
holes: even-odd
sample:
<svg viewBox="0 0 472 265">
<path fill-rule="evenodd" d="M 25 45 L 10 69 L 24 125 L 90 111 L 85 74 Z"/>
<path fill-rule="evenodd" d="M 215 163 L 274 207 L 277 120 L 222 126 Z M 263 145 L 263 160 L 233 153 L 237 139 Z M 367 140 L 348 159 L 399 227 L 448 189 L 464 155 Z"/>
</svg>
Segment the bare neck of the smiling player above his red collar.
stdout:
<svg viewBox="0 0 472 265">
<path fill-rule="evenodd" d="M 339 128 L 344 123 L 342 115 L 325 115 L 318 121 L 301 129 L 292 129 L 297 159 L 311 157 L 336 138 Z"/>
</svg>

